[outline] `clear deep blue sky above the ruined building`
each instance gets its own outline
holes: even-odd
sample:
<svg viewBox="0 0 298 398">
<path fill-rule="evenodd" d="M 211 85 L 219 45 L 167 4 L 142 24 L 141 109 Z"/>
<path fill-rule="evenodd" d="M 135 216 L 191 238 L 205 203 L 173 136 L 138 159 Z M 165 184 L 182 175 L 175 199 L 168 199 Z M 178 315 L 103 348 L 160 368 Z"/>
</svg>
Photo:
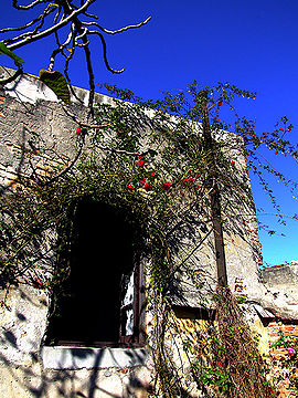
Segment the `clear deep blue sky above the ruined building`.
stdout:
<svg viewBox="0 0 298 398">
<path fill-rule="evenodd" d="M 105 70 L 102 46 L 95 40 L 96 83 L 109 82 L 155 98 L 161 91 L 184 88 L 194 78 L 203 85 L 227 81 L 259 93 L 253 103 L 240 104 L 240 113 L 256 118 L 258 133 L 272 130 L 275 122 L 287 115 L 295 125 L 288 138 L 298 142 L 297 0 L 97 0 L 91 11 L 111 30 L 152 15 L 138 30 L 106 36 L 110 65 L 126 69 L 120 75 Z M 31 15 L 13 10 L 11 0 L 1 1 L 1 27 L 23 23 Z M 39 74 L 41 67 L 47 67 L 51 49 L 51 40 L 45 39 L 15 52 L 25 60 L 25 72 Z M 4 55 L 0 63 L 12 66 Z M 55 66 L 58 70 L 58 64 Z M 71 67 L 71 78 L 74 85 L 87 88 L 87 73 L 79 57 Z M 296 163 L 273 154 L 269 161 L 298 180 Z M 281 184 L 274 187 L 284 212 L 298 213 L 297 199 Z M 272 212 L 254 179 L 253 190 L 256 207 L 264 209 L 259 212 Z M 283 227 L 274 217 L 258 218 L 270 229 L 278 229 L 274 237 L 260 231 L 264 260 L 269 264 L 298 260 L 298 221 L 288 219 Z"/>
</svg>

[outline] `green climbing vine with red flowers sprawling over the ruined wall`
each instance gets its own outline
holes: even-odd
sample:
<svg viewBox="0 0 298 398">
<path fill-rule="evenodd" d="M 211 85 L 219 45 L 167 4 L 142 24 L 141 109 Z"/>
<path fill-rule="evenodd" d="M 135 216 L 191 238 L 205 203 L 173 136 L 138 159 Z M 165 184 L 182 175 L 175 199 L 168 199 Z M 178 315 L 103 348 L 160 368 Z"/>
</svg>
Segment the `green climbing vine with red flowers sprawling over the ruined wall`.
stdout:
<svg viewBox="0 0 298 398">
<path fill-rule="evenodd" d="M 157 102 L 143 102 L 107 84 L 105 88 L 115 100 L 97 105 L 96 127 L 78 122 L 73 132 L 76 163 L 65 167 L 56 161 L 45 176 L 33 172 L 34 179 L 20 175 L 1 197 L 1 283 L 8 287 L 30 283 L 52 294 L 61 291 L 70 274 L 71 214 L 77 203 L 89 198 L 124 209 L 128 222 L 141 226 L 136 242 L 149 259 L 148 346 L 157 374 L 155 392 L 187 397 L 190 386 L 195 386 L 210 397 L 269 397 L 266 366 L 225 283 L 219 235 L 224 229 L 231 237 L 254 217 L 245 157 L 275 203 L 263 175 L 270 170 L 260 163 L 258 148 L 265 144 L 296 160 L 297 148 L 285 140 L 294 126 L 284 117 L 272 134 L 258 136 L 254 123 L 241 118 L 233 107 L 235 96 L 255 98 L 256 93 L 230 84 L 200 90 L 194 82 L 185 92 L 166 93 Z M 221 121 L 223 106 L 233 112 L 233 124 Z M 296 189 L 296 182 L 272 171 Z M 183 245 L 187 227 L 193 244 L 189 240 Z M 194 281 L 191 269 L 192 255 L 203 251 L 206 240 L 215 252 L 219 286 L 213 304 L 202 298 L 202 306 L 213 305 L 215 316 L 209 313 L 205 333 L 194 322 L 190 336 L 175 317 L 172 296 L 181 274 L 189 276 L 198 296 L 206 287 L 204 277 Z M 55 266 L 53 253 L 58 259 Z M 213 293 L 215 284 L 209 286 Z M 179 344 L 185 355 L 180 367 L 173 354 Z"/>
</svg>

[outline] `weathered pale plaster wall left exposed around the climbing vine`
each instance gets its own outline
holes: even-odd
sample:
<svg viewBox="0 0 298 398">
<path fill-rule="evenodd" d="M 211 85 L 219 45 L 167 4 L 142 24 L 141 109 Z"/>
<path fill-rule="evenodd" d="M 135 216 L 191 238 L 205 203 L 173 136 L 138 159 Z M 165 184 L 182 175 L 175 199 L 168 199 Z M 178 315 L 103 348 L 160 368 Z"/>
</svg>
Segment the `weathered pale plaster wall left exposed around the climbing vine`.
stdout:
<svg viewBox="0 0 298 398">
<path fill-rule="evenodd" d="M 68 107 L 72 114 L 86 122 L 88 112 L 84 104 L 87 103 L 87 94 L 76 88 L 82 103 L 73 98 Z M 103 95 L 98 95 L 96 101 L 113 102 Z M 76 154 L 77 124 L 65 113 L 50 88 L 34 76 L 23 75 L 2 91 L 0 102 L 0 184 L 3 191 L 18 184 L 19 174 L 50 174 L 56 166 L 66 167 L 72 161 Z M 85 148 L 87 150 L 88 142 Z M 242 158 L 235 172 L 244 168 L 245 160 Z M 198 222 L 200 213 L 192 216 L 195 216 L 193 223 L 179 229 L 173 237 L 179 242 L 177 253 L 180 258 L 194 248 L 178 272 L 178 285 L 172 295 L 173 304 L 183 308 L 198 308 L 206 303 L 212 306 L 206 298 L 211 297 L 216 284 L 212 239 L 206 240 L 203 247 L 198 245 L 204 239 L 205 231 L 203 224 Z M 276 283 L 266 280 L 265 274 L 265 284 L 262 283 L 258 270 L 260 251 L 253 209 L 241 209 L 238 213 L 235 210 L 234 221 L 224 233 L 230 285 L 235 294 L 246 297 L 247 317 L 258 324 L 256 329 L 262 332 L 264 349 L 268 350 L 270 329 L 259 320 L 275 316 L 270 311 L 278 307 L 298 315 L 297 291 L 295 293 L 292 286 L 291 303 L 285 298 L 286 293 L 283 293 L 281 301 L 276 302 L 276 289 L 280 287 L 280 283 L 276 287 Z M 199 249 L 195 249 L 196 245 Z M 52 261 L 55 261 L 54 254 Z M 204 284 L 199 292 L 194 285 L 202 281 Z M 21 398 L 146 396 L 152 381 L 152 365 L 143 348 L 43 347 L 51 297 L 40 287 L 21 284 L 11 289 L 6 297 L 6 306 L 1 308 L 0 394 Z M 288 281 L 283 289 L 287 291 Z M 266 311 L 266 307 L 270 311 Z M 179 360 L 184 358 L 183 355 L 175 353 Z"/>
</svg>

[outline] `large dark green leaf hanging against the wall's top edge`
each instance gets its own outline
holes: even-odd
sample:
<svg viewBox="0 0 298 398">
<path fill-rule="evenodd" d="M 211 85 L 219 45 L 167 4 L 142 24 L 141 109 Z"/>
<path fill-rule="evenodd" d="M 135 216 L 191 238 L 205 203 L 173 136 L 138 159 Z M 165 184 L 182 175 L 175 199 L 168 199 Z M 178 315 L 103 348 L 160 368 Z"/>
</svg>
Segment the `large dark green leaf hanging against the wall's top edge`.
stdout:
<svg viewBox="0 0 298 398">
<path fill-rule="evenodd" d="M 50 72 L 46 70 L 40 70 L 40 80 L 51 88 L 56 96 L 65 102 L 71 103 L 71 93 L 64 75 L 61 72 Z"/>
</svg>

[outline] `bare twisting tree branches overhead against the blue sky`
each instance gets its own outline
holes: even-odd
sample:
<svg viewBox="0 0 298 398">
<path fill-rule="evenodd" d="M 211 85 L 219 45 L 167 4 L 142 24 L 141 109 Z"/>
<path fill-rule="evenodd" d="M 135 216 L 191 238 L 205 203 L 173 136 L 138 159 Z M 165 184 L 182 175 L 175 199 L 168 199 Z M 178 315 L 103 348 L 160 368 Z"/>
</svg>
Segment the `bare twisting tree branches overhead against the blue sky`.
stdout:
<svg viewBox="0 0 298 398">
<path fill-rule="evenodd" d="M 92 62 L 91 40 L 96 36 L 103 46 L 103 57 L 107 70 L 111 73 L 121 73 L 124 67 L 116 70 L 110 66 L 107 57 L 107 45 L 104 34 L 117 34 L 130 29 L 140 28 L 146 24 L 151 17 L 137 24 L 129 24 L 117 30 L 108 30 L 102 23 L 98 22 L 98 17 L 89 12 L 89 7 L 96 0 L 35 0 L 29 2 L 26 6 L 20 6 L 18 0 L 12 0 L 12 7 L 19 11 L 32 11 L 36 10 L 36 15 L 29 22 L 17 28 L 3 28 L 0 29 L 0 34 L 3 34 L 6 39 L 0 42 L 0 52 L 12 57 L 18 71 L 22 71 L 23 61 L 14 54 L 14 50 L 18 50 L 24 45 L 44 39 L 46 36 L 54 36 L 55 43 L 51 50 L 49 56 L 47 71 L 53 72 L 55 60 L 57 55 L 64 59 L 64 75 L 68 84 L 71 78 L 68 75 L 68 66 L 73 60 L 77 50 L 83 50 L 85 55 L 86 67 L 89 78 L 89 106 L 93 106 L 94 102 L 94 66 Z M 43 6 L 42 11 L 40 7 Z M 39 11 L 38 11 L 39 9 Z M 65 34 L 65 29 L 68 30 Z M 19 75 L 18 74 L 18 75 Z M 18 77 L 15 75 L 15 77 Z M 7 80 L 0 81 L 0 83 L 8 83 Z"/>
</svg>

